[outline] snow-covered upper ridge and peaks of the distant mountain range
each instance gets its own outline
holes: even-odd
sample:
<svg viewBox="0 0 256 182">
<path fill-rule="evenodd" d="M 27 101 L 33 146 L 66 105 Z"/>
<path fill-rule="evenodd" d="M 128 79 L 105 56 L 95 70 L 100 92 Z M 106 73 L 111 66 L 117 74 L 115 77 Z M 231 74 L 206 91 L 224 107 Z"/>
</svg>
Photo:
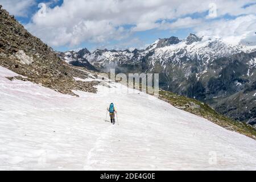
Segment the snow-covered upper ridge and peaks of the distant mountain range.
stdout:
<svg viewBox="0 0 256 182">
<path fill-rule="evenodd" d="M 162 65 L 168 62 L 181 63 L 197 59 L 203 64 L 208 61 L 234 55 L 236 53 L 250 53 L 256 51 L 255 46 L 244 46 L 243 44 L 229 44 L 224 42 L 219 37 L 209 36 L 199 38 L 195 34 L 189 34 L 184 40 L 172 36 L 168 39 L 158 39 L 144 50 L 130 52 L 116 51 L 108 49 L 97 49 L 92 53 L 86 53 L 86 58 L 96 67 L 105 67 L 109 63 L 132 64 L 139 63 L 147 58 L 151 62 L 151 68 L 154 68 L 154 63 L 160 61 Z M 184 60 L 184 58 L 186 58 Z"/>
</svg>

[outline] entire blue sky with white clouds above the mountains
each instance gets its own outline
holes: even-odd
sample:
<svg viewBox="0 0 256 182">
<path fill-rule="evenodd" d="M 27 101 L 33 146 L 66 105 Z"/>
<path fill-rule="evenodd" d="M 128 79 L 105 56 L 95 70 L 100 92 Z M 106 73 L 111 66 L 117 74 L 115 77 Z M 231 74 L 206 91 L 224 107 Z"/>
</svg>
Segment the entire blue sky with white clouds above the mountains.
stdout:
<svg viewBox="0 0 256 182">
<path fill-rule="evenodd" d="M 39 3 L 46 5 L 44 16 L 39 16 Z M 57 51 L 141 49 L 158 38 L 184 39 L 190 32 L 254 39 L 256 31 L 254 0 L 0 0 L 0 4 Z"/>
</svg>

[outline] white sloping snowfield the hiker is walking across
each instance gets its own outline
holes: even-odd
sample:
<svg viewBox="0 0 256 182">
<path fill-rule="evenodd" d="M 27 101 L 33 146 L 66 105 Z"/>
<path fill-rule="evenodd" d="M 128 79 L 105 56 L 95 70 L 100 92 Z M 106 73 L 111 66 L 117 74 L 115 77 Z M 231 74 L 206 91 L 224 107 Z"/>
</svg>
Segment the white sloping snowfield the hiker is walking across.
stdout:
<svg viewBox="0 0 256 182">
<path fill-rule="evenodd" d="M 1 170 L 256 169 L 255 140 L 153 96 L 111 84 L 77 98 L 15 75 L 0 67 Z"/>
</svg>

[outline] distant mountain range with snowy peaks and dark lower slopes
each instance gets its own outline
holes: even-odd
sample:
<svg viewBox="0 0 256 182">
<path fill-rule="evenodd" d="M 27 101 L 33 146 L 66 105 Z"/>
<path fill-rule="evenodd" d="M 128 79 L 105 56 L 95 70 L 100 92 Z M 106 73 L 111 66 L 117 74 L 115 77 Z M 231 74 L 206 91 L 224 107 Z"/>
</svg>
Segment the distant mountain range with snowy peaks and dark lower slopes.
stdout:
<svg viewBox="0 0 256 182">
<path fill-rule="evenodd" d="M 158 39 L 146 49 L 97 49 L 84 55 L 102 71 L 159 73 L 160 88 L 207 102 L 233 119 L 256 122 L 256 47 L 189 34 Z"/>
</svg>

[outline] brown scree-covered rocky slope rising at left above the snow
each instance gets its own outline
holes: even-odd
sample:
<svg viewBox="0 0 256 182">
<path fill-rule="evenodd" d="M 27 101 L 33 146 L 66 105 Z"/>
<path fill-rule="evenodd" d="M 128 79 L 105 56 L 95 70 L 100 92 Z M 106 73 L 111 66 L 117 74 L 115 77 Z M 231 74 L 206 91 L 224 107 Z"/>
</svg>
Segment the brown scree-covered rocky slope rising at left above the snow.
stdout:
<svg viewBox="0 0 256 182">
<path fill-rule="evenodd" d="M 72 90 L 96 92 L 97 82 L 76 81 L 74 77 L 86 78 L 88 73 L 72 68 L 62 61 L 52 48 L 32 36 L 0 6 L 0 65 L 20 76 L 10 77 L 32 81 L 61 93 Z"/>
</svg>

